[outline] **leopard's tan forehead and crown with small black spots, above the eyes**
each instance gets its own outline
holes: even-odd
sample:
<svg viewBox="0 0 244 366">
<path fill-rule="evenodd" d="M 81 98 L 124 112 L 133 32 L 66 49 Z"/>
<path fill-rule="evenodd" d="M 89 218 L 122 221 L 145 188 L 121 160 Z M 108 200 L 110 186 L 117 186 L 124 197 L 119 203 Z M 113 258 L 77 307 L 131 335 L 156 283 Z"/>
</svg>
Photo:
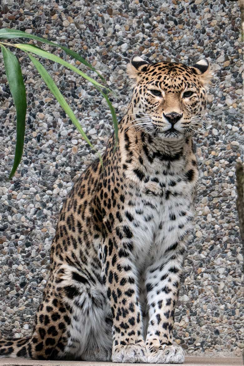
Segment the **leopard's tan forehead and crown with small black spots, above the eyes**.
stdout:
<svg viewBox="0 0 244 366">
<path fill-rule="evenodd" d="M 173 90 L 198 85 L 196 69 L 181 63 L 159 62 L 141 69 L 144 83 Z"/>
</svg>

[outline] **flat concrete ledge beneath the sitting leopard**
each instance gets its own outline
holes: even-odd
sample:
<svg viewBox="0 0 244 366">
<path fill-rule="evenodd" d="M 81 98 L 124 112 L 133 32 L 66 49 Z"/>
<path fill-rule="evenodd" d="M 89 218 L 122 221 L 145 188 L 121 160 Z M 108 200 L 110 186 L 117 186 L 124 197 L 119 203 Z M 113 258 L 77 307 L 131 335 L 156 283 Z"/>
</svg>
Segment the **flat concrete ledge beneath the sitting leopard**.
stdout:
<svg viewBox="0 0 244 366">
<path fill-rule="evenodd" d="M 0 358 L 0 366 L 126 366 L 130 363 L 113 363 L 113 362 L 86 362 L 86 361 L 38 361 L 25 358 Z M 138 365 L 138 364 L 137 364 Z M 147 366 L 148 363 L 140 365 Z M 154 363 L 151 365 L 158 366 Z M 169 365 L 169 364 L 168 364 Z M 171 366 L 179 366 L 179 364 L 170 364 Z M 195 357 L 185 358 L 184 366 L 243 366 L 243 362 L 239 357 Z"/>
</svg>

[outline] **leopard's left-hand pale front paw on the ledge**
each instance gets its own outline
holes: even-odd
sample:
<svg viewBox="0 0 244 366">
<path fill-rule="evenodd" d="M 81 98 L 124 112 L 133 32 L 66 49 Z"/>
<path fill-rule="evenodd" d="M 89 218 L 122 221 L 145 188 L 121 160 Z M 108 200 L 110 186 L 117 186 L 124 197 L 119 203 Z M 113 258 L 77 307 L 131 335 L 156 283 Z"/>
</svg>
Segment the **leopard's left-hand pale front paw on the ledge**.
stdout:
<svg viewBox="0 0 244 366">
<path fill-rule="evenodd" d="M 116 346 L 112 351 L 113 362 L 147 363 L 146 348 L 137 344 Z"/>
</svg>

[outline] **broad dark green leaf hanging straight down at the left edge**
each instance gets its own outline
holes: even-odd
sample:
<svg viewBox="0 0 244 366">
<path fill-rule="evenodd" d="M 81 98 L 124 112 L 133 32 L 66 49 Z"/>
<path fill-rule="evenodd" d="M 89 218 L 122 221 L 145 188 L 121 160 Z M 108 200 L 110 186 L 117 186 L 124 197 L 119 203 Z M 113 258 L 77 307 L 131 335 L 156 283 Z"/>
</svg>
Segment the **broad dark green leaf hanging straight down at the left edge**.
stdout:
<svg viewBox="0 0 244 366">
<path fill-rule="evenodd" d="M 25 138 L 26 93 L 25 84 L 17 57 L 1 45 L 8 84 L 16 109 L 16 146 L 14 164 L 8 179 L 11 179 L 21 161 Z"/>
</svg>

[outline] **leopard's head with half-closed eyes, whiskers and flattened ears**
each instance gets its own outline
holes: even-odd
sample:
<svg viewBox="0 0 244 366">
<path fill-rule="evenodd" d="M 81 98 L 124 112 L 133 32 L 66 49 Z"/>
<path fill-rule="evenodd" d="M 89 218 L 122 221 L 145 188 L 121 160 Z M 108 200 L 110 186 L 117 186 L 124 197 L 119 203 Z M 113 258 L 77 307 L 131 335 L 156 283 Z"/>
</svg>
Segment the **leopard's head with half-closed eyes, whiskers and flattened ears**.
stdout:
<svg viewBox="0 0 244 366">
<path fill-rule="evenodd" d="M 211 79 L 206 59 L 194 66 L 170 62 L 151 65 L 134 56 L 128 74 L 135 79 L 132 117 L 136 128 L 171 140 L 202 128 L 206 85 Z"/>
</svg>

